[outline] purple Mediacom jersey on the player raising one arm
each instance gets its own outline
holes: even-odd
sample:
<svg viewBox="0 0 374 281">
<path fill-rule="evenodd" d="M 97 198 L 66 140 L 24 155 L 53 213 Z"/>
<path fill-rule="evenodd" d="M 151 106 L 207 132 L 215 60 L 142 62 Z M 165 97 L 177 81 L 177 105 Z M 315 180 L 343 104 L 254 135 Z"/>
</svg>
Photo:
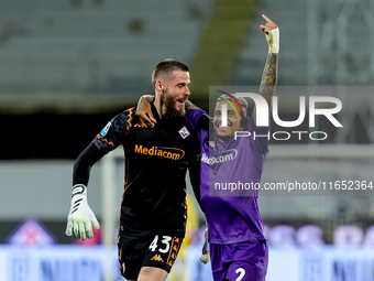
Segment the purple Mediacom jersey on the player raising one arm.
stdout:
<svg viewBox="0 0 374 281">
<path fill-rule="evenodd" d="M 206 214 L 209 242 L 234 244 L 264 240 L 257 195 L 265 158 L 268 127 L 256 127 L 253 118 L 245 125 L 246 137 L 220 142 L 200 109 L 187 112 L 201 144 L 200 203 Z M 249 133 L 248 133 L 249 132 Z"/>
</svg>

